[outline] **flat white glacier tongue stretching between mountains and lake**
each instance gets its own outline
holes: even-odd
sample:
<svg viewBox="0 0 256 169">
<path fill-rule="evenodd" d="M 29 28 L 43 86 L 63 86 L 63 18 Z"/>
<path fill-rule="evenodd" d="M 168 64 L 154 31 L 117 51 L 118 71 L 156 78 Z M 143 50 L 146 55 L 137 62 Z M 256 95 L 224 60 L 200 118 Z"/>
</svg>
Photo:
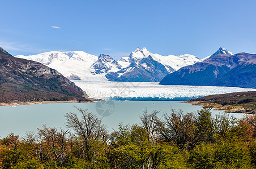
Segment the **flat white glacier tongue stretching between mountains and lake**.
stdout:
<svg viewBox="0 0 256 169">
<path fill-rule="evenodd" d="M 113 97 L 159 97 L 175 99 L 256 90 L 252 88 L 216 86 L 165 86 L 159 85 L 156 82 L 73 82 L 82 88 L 89 98 L 103 100 Z"/>
</svg>

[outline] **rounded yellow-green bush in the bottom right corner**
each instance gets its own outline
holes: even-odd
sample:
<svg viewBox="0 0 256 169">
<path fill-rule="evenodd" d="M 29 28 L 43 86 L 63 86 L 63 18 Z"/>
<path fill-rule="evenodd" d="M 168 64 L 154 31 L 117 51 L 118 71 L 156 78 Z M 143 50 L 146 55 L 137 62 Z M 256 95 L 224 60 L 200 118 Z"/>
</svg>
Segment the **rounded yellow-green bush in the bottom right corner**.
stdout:
<svg viewBox="0 0 256 169">
<path fill-rule="evenodd" d="M 225 140 L 197 145 L 189 162 L 193 168 L 255 168 L 244 143 Z"/>
</svg>

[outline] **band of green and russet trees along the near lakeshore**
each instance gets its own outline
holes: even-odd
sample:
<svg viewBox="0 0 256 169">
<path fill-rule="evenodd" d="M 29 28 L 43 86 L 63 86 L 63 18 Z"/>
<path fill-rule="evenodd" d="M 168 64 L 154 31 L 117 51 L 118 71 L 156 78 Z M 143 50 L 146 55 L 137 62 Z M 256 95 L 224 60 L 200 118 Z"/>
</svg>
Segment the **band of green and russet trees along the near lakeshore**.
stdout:
<svg viewBox="0 0 256 169">
<path fill-rule="evenodd" d="M 101 118 L 77 109 L 66 114 L 68 130 L 42 126 L 0 140 L 0 168 L 255 168 L 256 115 L 145 110 L 140 123 L 109 134 Z"/>
</svg>

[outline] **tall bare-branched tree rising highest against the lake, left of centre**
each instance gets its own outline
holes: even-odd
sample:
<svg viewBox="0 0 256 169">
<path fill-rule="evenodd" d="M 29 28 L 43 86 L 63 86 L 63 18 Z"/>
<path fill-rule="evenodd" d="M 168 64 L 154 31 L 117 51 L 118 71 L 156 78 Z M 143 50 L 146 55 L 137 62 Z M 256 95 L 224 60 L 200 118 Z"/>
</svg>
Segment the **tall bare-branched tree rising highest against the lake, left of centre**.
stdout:
<svg viewBox="0 0 256 169">
<path fill-rule="evenodd" d="M 66 113 L 67 127 L 72 128 L 76 135 L 73 151 L 78 158 L 83 157 L 88 162 L 92 162 L 92 168 L 100 157 L 100 150 L 104 149 L 108 140 L 106 126 L 101 124 L 101 119 L 87 109 L 76 108 L 81 117 L 75 113 Z"/>
</svg>

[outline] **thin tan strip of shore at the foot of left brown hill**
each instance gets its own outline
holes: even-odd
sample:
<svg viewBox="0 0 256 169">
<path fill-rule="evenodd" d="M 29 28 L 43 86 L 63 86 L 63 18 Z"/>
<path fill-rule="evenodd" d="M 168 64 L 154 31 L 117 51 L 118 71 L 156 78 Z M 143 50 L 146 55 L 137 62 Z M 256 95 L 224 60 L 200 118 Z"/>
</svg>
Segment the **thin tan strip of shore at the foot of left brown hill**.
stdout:
<svg viewBox="0 0 256 169">
<path fill-rule="evenodd" d="M 56 103 L 94 103 L 92 100 L 79 101 L 79 100 L 67 100 L 67 101 L 17 101 L 13 103 L 0 103 L 0 106 L 19 106 L 19 105 L 33 105 L 33 104 L 56 104 Z"/>
</svg>

